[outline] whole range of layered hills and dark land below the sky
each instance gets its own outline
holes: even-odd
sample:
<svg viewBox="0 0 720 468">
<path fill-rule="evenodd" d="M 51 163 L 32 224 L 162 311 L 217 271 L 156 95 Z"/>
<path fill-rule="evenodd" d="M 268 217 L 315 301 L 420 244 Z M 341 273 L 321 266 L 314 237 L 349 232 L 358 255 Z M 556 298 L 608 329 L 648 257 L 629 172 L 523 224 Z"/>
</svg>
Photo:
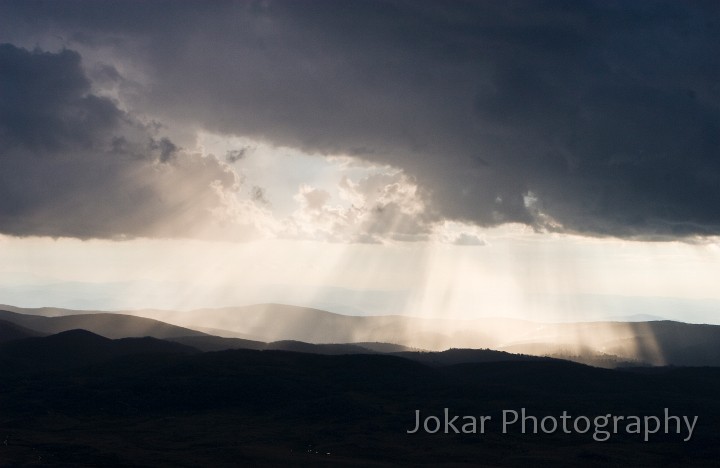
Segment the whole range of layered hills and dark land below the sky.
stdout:
<svg viewBox="0 0 720 468">
<path fill-rule="evenodd" d="M 619 366 L 648 364 L 656 348 L 673 362 L 717 365 L 717 327 L 527 322 L 515 330 L 525 337 L 516 345 L 535 351 L 568 328 L 582 337 L 624 330 L 615 341 L 603 338 L 618 347 L 633 340 L 638 361 L 587 350 L 606 367 L 622 367 L 612 370 L 502 349 L 326 342 L 347 338 L 342 327 L 305 342 L 293 337 L 314 336 L 313 319 L 327 333 L 330 323 L 366 327 L 358 338 L 394 334 L 393 326 L 413 319 L 362 320 L 272 305 L 242 317 L 243 310 L 207 311 L 224 317 L 208 328 L 226 336 L 133 311 L 0 311 L 0 466 L 702 467 L 720 456 L 720 368 Z M 259 316 L 284 333 L 262 335 L 272 326 L 261 323 L 237 325 Z M 279 325 L 284 316 L 306 322 L 298 335 Z M 379 323 L 391 329 L 370 333 Z M 284 339 L 228 337 L 244 332 Z M 506 412 L 523 409 L 538 417 L 651 418 L 669 411 L 698 419 L 687 441 L 672 431 L 653 433 L 648 442 L 628 431 L 604 442 L 580 431 L 503 431 Z M 410 434 L 418 411 L 486 415 L 491 423 L 480 434 Z"/>
</svg>

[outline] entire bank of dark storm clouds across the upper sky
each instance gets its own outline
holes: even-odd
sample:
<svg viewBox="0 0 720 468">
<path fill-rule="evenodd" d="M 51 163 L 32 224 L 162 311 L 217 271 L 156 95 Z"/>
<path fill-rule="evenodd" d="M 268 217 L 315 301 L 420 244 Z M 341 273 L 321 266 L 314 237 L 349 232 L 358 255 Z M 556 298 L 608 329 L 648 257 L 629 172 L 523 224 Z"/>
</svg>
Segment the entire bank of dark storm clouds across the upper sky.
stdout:
<svg viewBox="0 0 720 468">
<path fill-rule="evenodd" d="M 428 220 L 720 234 L 716 2 L 4 2 L 0 17 L 15 44 L 0 67 L 5 233 L 171 233 L 222 210 L 226 166 L 137 113 L 401 168 L 429 218 L 402 221 L 407 200 L 381 194 L 396 213 L 372 215 L 370 237 L 392 220 L 397 238 Z M 138 78 L 116 80 L 122 105 L 93 94 L 81 55 L 106 81 Z M 299 197 L 320 224 L 349 216 Z"/>
</svg>

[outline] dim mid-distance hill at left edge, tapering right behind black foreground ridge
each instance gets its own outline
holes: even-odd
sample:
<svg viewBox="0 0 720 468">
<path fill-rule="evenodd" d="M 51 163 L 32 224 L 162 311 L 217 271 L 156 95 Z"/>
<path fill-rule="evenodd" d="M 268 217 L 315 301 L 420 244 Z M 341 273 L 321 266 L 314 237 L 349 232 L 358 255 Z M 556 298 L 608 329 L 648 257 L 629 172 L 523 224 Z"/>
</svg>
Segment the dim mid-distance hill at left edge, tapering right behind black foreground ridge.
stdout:
<svg viewBox="0 0 720 468">
<path fill-rule="evenodd" d="M 163 339 L 178 336 L 205 335 L 202 332 L 189 328 L 178 327 L 145 317 L 135 317 L 124 314 L 103 313 L 43 317 L 0 310 L 0 320 L 12 322 L 16 325 L 45 334 L 83 329 L 106 338 L 152 336 Z"/>
</svg>

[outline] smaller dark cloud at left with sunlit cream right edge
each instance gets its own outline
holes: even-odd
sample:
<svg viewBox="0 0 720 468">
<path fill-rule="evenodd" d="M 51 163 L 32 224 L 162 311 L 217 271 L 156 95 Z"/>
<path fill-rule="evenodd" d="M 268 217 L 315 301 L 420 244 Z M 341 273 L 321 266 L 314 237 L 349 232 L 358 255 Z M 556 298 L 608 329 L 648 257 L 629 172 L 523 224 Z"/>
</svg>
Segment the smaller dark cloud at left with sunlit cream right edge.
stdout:
<svg viewBox="0 0 720 468">
<path fill-rule="evenodd" d="M 0 232 L 194 236 L 235 183 L 93 94 L 76 52 L 0 45 Z"/>
</svg>

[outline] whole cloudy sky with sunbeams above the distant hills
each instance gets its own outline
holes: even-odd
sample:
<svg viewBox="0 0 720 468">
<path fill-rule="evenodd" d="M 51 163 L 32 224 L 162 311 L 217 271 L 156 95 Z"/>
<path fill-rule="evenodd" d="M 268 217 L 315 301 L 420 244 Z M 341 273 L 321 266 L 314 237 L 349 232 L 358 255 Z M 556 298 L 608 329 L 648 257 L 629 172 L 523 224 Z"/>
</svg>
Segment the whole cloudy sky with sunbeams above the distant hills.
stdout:
<svg viewBox="0 0 720 468">
<path fill-rule="evenodd" d="M 713 1 L 0 1 L 0 303 L 720 323 Z"/>
</svg>

